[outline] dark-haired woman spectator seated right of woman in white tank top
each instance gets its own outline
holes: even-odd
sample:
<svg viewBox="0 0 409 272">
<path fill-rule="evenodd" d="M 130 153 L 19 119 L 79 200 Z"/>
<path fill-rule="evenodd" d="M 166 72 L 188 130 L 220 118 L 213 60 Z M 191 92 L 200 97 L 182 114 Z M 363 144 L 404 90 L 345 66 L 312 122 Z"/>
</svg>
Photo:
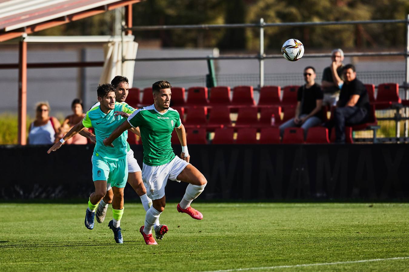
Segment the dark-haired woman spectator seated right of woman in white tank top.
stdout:
<svg viewBox="0 0 409 272">
<path fill-rule="evenodd" d="M 85 116 L 83 111 L 83 104 L 81 99 L 74 99 L 71 103 L 71 109 L 74 114 L 65 117 L 63 124 L 61 125 L 61 137 L 64 136 L 70 129 L 78 124 Z M 87 138 L 80 134 L 74 135 L 72 138 L 65 141 L 66 144 L 87 144 Z"/>
</svg>

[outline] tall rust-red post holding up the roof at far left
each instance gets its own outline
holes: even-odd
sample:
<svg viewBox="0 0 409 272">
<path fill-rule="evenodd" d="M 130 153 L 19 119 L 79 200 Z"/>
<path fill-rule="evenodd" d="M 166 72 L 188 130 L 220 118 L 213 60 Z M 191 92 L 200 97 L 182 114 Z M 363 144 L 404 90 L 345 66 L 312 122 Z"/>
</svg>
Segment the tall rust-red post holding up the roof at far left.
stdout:
<svg viewBox="0 0 409 272">
<path fill-rule="evenodd" d="M 18 54 L 18 144 L 27 144 L 27 42 L 22 36 Z"/>
</svg>

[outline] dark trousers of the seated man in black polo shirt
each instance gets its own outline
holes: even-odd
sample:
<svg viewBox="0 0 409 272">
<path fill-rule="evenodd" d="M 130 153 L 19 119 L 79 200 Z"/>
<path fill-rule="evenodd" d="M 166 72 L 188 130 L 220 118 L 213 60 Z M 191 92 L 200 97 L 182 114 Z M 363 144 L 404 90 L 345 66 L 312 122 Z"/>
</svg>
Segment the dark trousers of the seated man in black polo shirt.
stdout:
<svg viewBox="0 0 409 272">
<path fill-rule="evenodd" d="M 357 125 L 364 123 L 368 119 L 368 111 L 366 108 L 358 107 L 341 107 L 335 108 L 334 122 L 335 122 L 335 135 L 337 143 L 345 143 L 345 126 Z M 333 126 L 334 124 L 332 124 Z M 332 127 L 331 126 L 331 127 Z"/>
</svg>

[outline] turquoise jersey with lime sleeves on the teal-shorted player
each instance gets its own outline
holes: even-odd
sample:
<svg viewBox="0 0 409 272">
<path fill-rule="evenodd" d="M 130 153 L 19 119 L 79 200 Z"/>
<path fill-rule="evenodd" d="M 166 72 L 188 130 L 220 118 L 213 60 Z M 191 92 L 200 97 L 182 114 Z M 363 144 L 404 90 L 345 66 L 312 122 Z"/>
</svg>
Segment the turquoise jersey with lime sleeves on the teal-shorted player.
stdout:
<svg viewBox="0 0 409 272">
<path fill-rule="evenodd" d="M 128 130 L 115 139 L 112 144 L 114 147 L 104 146 L 103 139 L 109 137 L 112 131 L 121 125 L 125 118 L 121 115 L 115 116 L 115 111 L 123 111 L 125 113 L 133 113 L 134 108 L 126 103 L 115 102 L 115 108 L 110 110 L 108 114 L 101 111 L 100 106 L 96 106 L 90 109 L 82 120 L 82 124 L 86 128 L 94 128 L 95 136 L 97 138 L 97 144 L 94 148 L 94 156 L 100 156 L 103 159 L 110 161 L 118 161 L 126 157 L 128 138 Z"/>
</svg>

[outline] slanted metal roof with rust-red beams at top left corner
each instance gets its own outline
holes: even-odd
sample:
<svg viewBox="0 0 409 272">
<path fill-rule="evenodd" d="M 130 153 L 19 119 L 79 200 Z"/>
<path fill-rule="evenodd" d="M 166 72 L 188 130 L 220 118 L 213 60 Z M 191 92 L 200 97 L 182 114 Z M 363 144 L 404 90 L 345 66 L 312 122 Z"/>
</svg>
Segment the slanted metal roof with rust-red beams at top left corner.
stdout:
<svg viewBox="0 0 409 272">
<path fill-rule="evenodd" d="M 0 0 L 0 42 L 142 0 Z"/>
</svg>

